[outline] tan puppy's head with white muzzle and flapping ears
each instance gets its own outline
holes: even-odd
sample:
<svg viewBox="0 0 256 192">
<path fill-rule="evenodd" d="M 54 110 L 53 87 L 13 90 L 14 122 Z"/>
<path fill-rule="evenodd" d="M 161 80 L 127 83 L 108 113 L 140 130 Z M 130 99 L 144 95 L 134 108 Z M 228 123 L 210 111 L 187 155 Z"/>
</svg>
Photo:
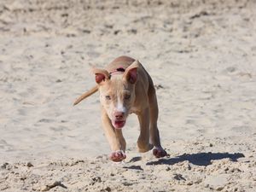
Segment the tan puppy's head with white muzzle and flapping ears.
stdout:
<svg viewBox="0 0 256 192">
<path fill-rule="evenodd" d="M 125 125 L 131 107 L 135 102 L 138 61 L 125 69 L 124 73 L 111 75 L 104 69 L 93 69 L 99 84 L 100 102 L 116 129 Z"/>
</svg>

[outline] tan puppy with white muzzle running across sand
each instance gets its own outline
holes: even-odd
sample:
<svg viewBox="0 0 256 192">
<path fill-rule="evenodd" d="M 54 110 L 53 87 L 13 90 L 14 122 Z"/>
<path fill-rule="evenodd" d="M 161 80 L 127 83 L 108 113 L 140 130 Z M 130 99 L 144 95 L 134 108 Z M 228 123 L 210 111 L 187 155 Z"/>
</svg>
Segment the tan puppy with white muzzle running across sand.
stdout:
<svg viewBox="0 0 256 192">
<path fill-rule="evenodd" d="M 99 90 L 102 125 L 112 150 L 110 160 L 126 158 L 122 128 L 129 113 L 136 113 L 140 124 L 138 151 L 143 153 L 154 148 L 155 157 L 166 156 L 157 128 L 158 105 L 154 84 L 143 65 L 131 57 L 120 56 L 106 69 L 94 68 L 92 72 L 95 73 L 96 86 L 80 96 L 74 105 Z"/>
</svg>

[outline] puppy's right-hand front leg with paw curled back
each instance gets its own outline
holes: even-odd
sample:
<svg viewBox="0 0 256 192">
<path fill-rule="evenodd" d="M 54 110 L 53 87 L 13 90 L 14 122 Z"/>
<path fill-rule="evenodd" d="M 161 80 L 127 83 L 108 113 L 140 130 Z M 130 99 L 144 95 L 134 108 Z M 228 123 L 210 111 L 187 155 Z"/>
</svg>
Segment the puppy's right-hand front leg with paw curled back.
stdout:
<svg viewBox="0 0 256 192">
<path fill-rule="evenodd" d="M 143 111 L 137 113 L 140 123 L 140 136 L 137 139 L 137 148 L 139 152 L 144 153 L 153 148 L 149 143 L 149 109 L 145 108 Z"/>
</svg>

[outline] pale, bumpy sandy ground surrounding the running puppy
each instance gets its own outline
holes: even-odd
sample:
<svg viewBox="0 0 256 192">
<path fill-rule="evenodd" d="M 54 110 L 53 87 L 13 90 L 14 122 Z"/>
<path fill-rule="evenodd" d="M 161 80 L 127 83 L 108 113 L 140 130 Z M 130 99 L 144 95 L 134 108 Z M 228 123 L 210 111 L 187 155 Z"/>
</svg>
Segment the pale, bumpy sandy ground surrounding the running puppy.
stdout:
<svg viewBox="0 0 256 192">
<path fill-rule="evenodd" d="M 0 191 L 255 191 L 255 1 L 0 2 Z M 169 157 L 108 160 L 89 70 L 151 74 Z"/>
</svg>

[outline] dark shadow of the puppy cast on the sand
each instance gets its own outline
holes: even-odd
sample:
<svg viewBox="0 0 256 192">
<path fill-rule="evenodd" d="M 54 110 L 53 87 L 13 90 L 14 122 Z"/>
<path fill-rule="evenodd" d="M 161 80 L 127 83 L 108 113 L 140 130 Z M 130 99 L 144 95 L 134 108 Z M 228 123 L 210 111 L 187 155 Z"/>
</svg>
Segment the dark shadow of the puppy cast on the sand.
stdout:
<svg viewBox="0 0 256 192">
<path fill-rule="evenodd" d="M 212 160 L 222 160 L 225 158 L 229 158 L 232 161 L 237 161 L 237 159 L 245 157 L 244 154 L 236 153 L 236 154 L 229 154 L 229 153 L 199 153 L 199 154 L 182 154 L 177 157 L 172 158 L 164 158 L 159 160 L 154 160 L 148 162 L 147 166 L 154 166 L 154 165 L 174 165 L 179 162 L 188 160 L 189 163 L 194 164 L 195 166 L 209 166 L 212 164 Z"/>
</svg>

